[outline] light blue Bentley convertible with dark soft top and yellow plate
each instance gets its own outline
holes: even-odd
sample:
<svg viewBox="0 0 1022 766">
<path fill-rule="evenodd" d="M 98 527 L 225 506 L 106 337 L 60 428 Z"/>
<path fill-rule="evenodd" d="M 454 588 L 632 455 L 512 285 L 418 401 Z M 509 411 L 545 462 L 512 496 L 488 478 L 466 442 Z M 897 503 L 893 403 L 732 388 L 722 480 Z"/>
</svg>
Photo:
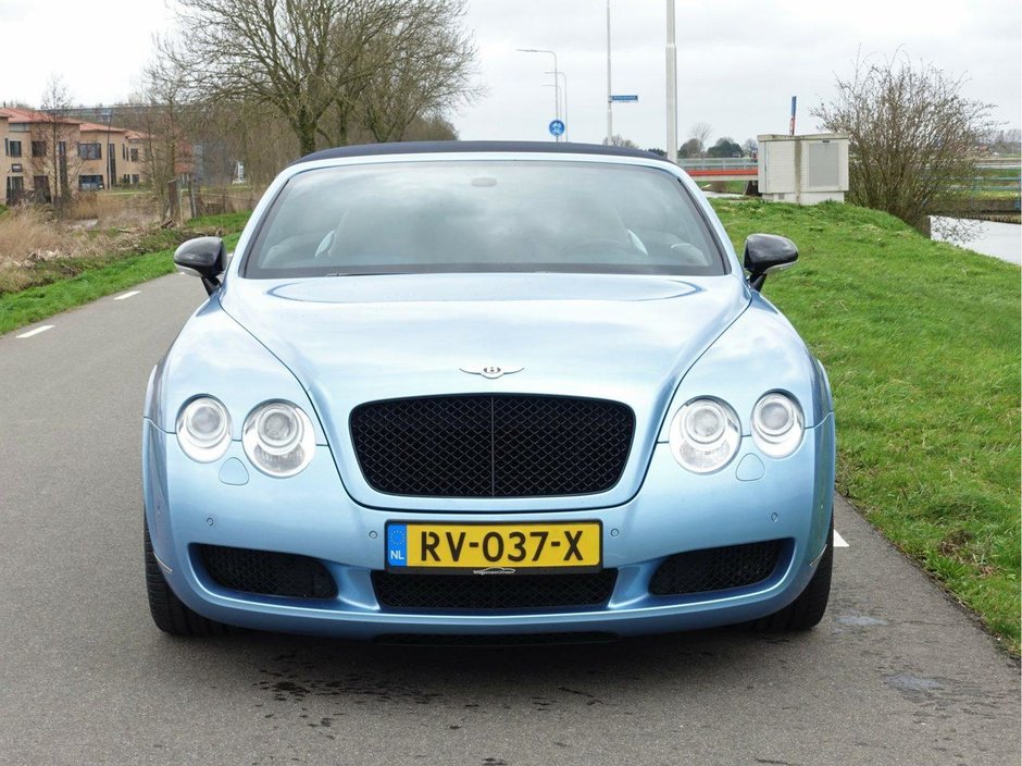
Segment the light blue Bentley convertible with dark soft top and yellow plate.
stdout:
<svg viewBox="0 0 1022 766">
<path fill-rule="evenodd" d="M 153 370 L 152 617 L 340 637 L 807 629 L 831 583 L 826 375 L 653 155 L 321 151 L 274 181 Z M 746 275 L 743 270 L 748 271 Z"/>
</svg>

